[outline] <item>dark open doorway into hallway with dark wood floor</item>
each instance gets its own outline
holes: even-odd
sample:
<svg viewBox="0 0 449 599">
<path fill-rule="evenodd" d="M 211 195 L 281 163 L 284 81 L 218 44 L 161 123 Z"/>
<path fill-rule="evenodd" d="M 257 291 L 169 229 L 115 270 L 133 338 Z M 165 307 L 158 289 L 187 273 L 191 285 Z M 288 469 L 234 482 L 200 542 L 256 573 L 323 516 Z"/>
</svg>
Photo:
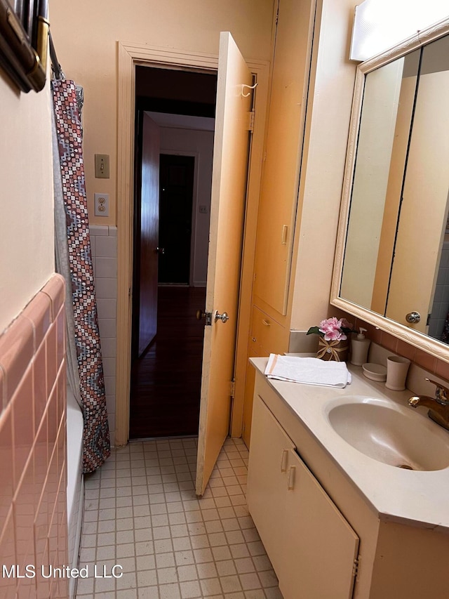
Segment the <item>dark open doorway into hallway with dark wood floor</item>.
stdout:
<svg viewBox="0 0 449 599">
<path fill-rule="evenodd" d="M 140 66 L 135 74 L 136 187 L 140 185 L 142 144 L 138 123 L 143 112 L 161 127 L 161 152 L 157 328 L 144 353 L 140 357 L 135 352 L 132 355 L 129 437 L 197 435 L 204 325 L 196 320 L 196 310 L 204 309 L 206 298 L 206 273 L 200 276 L 197 271 L 201 263 L 207 265 L 210 202 L 210 197 L 200 197 L 197 138 L 199 130 L 209 130 L 210 156 L 206 159 L 201 147 L 201 164 L 209 160 L 211 165 L 210 121 L 215 116 L 217 77 L 215 73 Z M 199 123 L 201 119 L 208 121 L 207 126 Z M 189 145 L 192 152 L 187 149 Z M 135 197 L 140 197 L 139 189 Z M 135 230 L 135 238 L 139 237 Z M 138 265 L 138 260 L 133 262 Z M 134 293 L 140 285 L 136 275 L 134 272 Z M 137 328 L 136 314 L 133 310 L 133 331 Z"/>
</svg>

